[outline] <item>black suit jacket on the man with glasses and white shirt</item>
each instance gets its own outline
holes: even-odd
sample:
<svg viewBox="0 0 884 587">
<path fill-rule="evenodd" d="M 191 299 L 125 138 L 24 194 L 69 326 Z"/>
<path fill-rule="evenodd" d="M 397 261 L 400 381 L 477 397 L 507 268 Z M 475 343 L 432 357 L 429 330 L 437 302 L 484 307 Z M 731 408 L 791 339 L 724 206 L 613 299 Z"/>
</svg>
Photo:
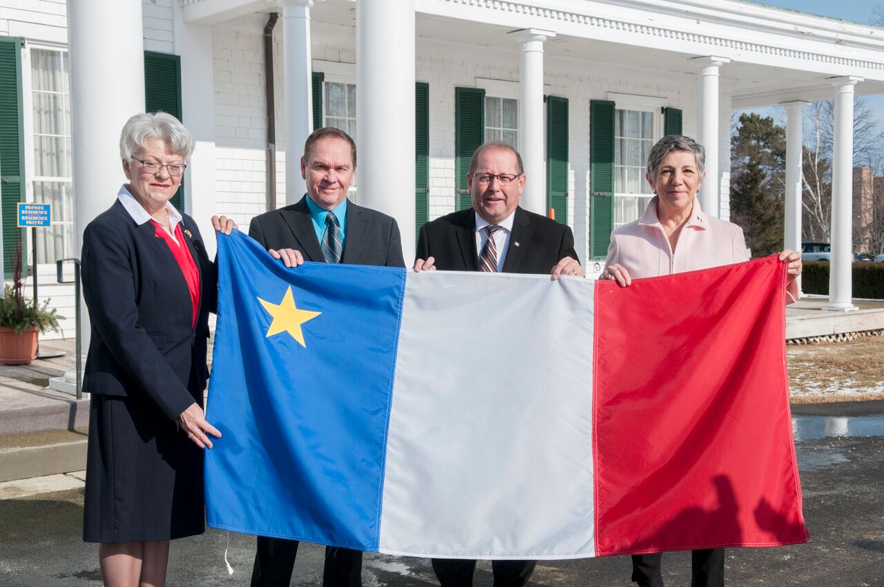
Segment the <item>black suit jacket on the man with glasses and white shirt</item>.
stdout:
<svg viewBox="0 0 884 587">
<path fill-rule="evenodd" d="M 516 208 L 510 235 L 505 273 L 549 273 L 566 256 L 578 261 L 574 234 L 567 225 Z M 479 271 L 476 251 L 476 213 L 453 212 L 421 227 L 417 237 L 418 259 L 432 256 L 441 271 Z"/>
</svg>

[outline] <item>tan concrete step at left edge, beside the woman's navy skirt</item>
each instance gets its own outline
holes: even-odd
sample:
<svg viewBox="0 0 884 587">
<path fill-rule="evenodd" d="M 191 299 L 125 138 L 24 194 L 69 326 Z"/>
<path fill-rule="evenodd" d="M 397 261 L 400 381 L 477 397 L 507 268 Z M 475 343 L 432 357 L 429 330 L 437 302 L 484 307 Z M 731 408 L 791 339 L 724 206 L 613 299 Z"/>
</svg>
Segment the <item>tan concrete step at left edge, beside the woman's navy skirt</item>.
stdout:
<svg viewBox="0 0 884 587">
<path fill-rule="evenodd" d="M 0 437 L 0 483 L 86 469 L 86 429 Z"/>
</svg>

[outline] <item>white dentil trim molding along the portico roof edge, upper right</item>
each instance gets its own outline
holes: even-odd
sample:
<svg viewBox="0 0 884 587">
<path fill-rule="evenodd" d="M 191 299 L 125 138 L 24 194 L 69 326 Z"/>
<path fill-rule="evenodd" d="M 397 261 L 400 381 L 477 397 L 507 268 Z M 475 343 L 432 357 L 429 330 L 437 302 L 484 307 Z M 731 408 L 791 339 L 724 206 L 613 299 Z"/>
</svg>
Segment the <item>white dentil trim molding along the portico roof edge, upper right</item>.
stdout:
<svg viewBox="0 0 884 587">
<path fill-rule="evenodd" d="M 726 53 L 754 65 L 884 80 L 884 31 L 728 0 L 417 0 L 417 11 L 505 27 L 693 55 Z M 788 18 L 786 18 L 788 17 Z M 800 24 L 796 24 L 800 23 Z M 714 49 L 714 50 L 713 50 Z M 856 57 L 854 57 L 856 56 Z"/>
</svg>

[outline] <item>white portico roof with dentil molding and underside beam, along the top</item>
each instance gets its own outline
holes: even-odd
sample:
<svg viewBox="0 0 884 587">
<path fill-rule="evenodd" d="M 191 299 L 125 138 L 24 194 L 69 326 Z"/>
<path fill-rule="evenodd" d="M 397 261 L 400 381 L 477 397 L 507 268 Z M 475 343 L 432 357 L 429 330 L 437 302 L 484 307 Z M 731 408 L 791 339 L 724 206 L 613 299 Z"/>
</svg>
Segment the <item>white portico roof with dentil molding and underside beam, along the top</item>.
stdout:
<svg viewBox="0 0 884 587">
<path fill-rule="evenodd" d="M 180 0 L 201 24 L 278 11 L 270 0 Z M 832 97 L 827 78 L 857 76 L 857 95 L 884 93 L 884 29 L 741 0 L 416 0 L 421 38 L 518 51 L 521 28 L 555 32 L 551 57 L 660 73 L 696 73 L 692 57 L 730 59 L 721 78 L 734 108 Z M 354 0 L 324 0 L 315 23 L 355 26 Z M 241 20 L 240 20 L 241 22 Z"/>
</svg>

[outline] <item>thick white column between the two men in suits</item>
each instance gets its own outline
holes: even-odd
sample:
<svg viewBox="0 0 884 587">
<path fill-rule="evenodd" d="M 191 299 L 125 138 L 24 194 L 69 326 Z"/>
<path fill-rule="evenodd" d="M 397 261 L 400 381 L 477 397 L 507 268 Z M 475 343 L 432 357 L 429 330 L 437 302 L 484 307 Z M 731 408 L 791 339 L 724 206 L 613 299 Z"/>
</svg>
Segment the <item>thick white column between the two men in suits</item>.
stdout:
<svg viewBox="0 0 884 587">
<path fill-rule="evenodd" d="M 359 202 L 396 218 L 415 258 L 415 0 L 356 3 Z"/>
</svg>

